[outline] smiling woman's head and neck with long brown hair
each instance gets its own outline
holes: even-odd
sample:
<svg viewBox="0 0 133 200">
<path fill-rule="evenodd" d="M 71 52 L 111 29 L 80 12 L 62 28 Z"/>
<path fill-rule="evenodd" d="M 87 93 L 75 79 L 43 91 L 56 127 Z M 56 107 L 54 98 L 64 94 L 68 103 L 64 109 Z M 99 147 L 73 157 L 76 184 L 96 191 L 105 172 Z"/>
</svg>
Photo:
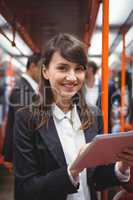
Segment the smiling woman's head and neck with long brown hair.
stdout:
<svg viewBox="0 0 133 200">
<path fill-rule="evenodd" d="M 72 35 L 59 34 L 47 43 L 43 60 L 40 83 L 43 105 L 40 108 L 45 117 L 42 121 L 47 121 L 46 111 L 50 112 L 54 102 L 67 112 L 76 101 L 82 108 L 82 125 L 91 126 L 94 117 L 82 94 L 87 65 L 84 44 Z M 40 115 L 40 110 L 37 113 Z"/>
</svg>

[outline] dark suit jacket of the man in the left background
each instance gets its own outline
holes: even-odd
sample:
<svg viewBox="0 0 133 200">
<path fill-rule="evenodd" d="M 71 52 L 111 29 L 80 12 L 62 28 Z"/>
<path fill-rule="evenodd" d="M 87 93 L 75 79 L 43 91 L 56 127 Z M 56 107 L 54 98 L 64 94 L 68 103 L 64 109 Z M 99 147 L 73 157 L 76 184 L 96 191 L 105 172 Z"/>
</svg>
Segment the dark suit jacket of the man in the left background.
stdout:
<svg viewBox="0 0 133 200">
<path fill-rule="evenodd" d="M 9 99 L 9 111 L 5 129 L 5 139 L 3 146 L 3 155 L 6 161 L 13 159 L 13 132 L 15 122 L 15 112 L 24 106 L 32 103 L 34 90 L 26 79 L 21 77 L 15 84 Z"/>
</svg>

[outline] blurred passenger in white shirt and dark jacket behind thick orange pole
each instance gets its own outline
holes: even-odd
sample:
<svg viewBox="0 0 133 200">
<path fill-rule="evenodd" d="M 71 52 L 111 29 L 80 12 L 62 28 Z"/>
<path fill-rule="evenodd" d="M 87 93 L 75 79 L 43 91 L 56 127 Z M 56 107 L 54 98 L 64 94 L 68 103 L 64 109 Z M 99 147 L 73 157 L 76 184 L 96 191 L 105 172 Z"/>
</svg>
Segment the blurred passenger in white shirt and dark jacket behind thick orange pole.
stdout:
<svg viewBox="0 0 133 200">
<path fill-rule="evenodd" d="M 94 61 L 88 62 L 83 93 L 88 105 L 97 105 L 101 110 L 102 81 L 97 75 L 98 69 Z M 112 97 L 115 93 L 115 85 L 111 80 L 108 82 L 108 89 L 108 131 L 111 132 Z"/>
</svg>

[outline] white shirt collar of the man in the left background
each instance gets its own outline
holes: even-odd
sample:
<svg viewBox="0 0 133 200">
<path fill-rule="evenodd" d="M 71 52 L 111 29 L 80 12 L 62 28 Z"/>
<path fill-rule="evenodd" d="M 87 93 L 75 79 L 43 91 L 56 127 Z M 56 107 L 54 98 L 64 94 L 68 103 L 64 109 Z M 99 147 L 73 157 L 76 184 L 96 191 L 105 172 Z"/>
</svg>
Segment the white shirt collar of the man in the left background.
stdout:
<svg viewBox="0 0 133 200">
<path fill-rule="evenodd" d="M 30 86 L 33 88 L 33 90 L 35 91 L 36 94 L 38 94 L 39 88 L 38 88 L 38 84 L 37 82 L 31 78 L 31 76 L 29 76 L 28 74 L 22 74 L 22 77 L 28 81 L 28 83 L 30 84 Z"/>
</svg>

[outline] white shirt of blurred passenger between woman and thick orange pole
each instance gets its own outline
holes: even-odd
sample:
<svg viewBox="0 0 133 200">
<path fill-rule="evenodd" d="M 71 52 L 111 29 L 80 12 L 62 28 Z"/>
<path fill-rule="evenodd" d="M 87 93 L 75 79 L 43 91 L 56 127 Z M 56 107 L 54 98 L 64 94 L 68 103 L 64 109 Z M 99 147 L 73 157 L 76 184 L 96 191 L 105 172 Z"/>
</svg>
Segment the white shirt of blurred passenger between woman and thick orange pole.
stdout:
<svg viewBox="0 0 133 200">
<path fill-rule="evenodd" d="M 97 76 L 95 76 L 93 87 L 88 87 L 87 84 L 84 85 L 83 93 L 87 105 L 95 106 L 99 96 L 99 79 Z"/>
</svg>

